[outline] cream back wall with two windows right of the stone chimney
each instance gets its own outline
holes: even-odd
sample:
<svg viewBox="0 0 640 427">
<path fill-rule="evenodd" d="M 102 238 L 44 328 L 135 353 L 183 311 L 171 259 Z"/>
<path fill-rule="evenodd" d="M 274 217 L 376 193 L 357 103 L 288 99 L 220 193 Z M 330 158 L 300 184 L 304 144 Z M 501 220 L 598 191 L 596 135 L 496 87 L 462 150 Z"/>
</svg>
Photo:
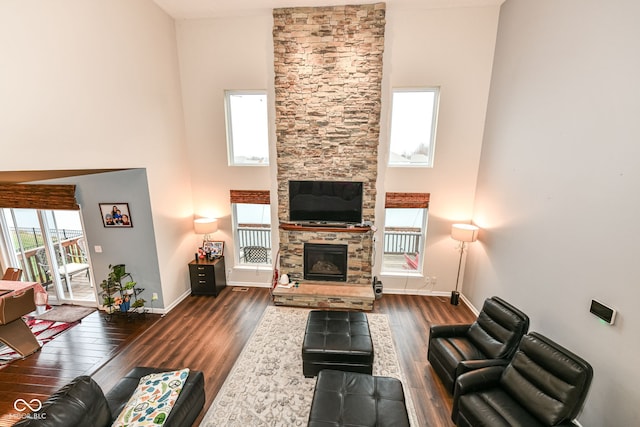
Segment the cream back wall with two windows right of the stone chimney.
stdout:
<svg viewBox="0 0 640 427">
<path fill-rule="evenodd" d="M 375 274 L 382 264 L 384 193 L 431 193 L 423 276 L 382 276 L 385 292 L 450 292 L 459 252 L 451 224 L 473 211 L 498 6 L 404 9 L 389 6 L 385 33 L 378 231 Z M 440 106 L 433 168 L 387 168 L 391 88 L 438 86 Z"/>
</svg>

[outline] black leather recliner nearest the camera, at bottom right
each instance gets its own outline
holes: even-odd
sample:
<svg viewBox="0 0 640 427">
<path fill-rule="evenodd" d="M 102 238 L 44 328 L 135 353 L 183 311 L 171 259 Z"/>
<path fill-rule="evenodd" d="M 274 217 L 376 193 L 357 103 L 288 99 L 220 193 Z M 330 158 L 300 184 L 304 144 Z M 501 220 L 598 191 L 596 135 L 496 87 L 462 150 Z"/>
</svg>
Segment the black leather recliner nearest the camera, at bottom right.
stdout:
<svg viewBox="0 0 640 427">
<path fill-rule="evenodd" d="M 458 427 L 575 426 L 592 377 L 589 363 L 532 332 L 507 366 L 458 377 L 451 418 Z"/>
</svg>

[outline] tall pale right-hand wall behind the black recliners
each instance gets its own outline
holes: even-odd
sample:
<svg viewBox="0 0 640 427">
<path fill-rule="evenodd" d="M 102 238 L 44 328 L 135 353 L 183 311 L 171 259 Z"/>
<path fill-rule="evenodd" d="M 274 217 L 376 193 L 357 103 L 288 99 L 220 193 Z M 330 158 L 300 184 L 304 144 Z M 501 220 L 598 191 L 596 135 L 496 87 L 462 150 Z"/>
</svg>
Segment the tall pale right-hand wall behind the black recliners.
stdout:
<svg viewBox="0 0 640 427">
<path fill-rule="evenodd" d="M 638 16 L 636 0 L 502 6 L 465 277 L 475 306 L 501 295 L 593 365 L 585 426 L 640 425 Z"/>
</svg>

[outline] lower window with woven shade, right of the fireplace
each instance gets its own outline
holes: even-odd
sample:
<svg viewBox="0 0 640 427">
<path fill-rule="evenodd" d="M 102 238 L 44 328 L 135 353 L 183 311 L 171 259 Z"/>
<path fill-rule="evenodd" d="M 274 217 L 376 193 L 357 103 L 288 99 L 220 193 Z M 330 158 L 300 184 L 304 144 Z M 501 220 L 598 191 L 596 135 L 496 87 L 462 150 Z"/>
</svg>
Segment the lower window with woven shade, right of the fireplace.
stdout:
<svg viewBox="0 0 640 427">
<path fill-rule="evenodd" d="M 428 193 L 386 194 L 382 273 L 422 272 L 428 207 Z"/>
</svg>

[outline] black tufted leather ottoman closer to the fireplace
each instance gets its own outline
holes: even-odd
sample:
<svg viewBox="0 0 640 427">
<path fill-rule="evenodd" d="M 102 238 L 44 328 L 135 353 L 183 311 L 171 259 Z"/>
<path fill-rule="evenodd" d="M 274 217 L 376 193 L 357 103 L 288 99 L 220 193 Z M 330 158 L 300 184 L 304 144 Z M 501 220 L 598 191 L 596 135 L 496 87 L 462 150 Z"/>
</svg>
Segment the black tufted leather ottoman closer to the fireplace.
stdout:
<svg viewBox="0 0 640 427">
<path fill-rule="evenodd" d="M 309 313 L 302 342 L 302 373 L 310 378 L 322 369 L 371 374 L 373 343 L 365 313 L 326 310 Z"/>
</svg>

